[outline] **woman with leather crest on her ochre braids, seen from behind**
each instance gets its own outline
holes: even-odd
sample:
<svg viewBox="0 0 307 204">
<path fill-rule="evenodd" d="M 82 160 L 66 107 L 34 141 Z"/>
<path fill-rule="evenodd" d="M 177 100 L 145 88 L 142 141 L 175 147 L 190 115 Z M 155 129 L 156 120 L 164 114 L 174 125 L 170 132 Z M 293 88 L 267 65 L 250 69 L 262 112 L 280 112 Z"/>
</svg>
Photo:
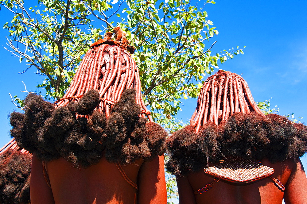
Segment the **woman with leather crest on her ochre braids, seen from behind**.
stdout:
<svg viewBox="0 0 307 204">
<path fill-rule="evenodd" d="M 134 48 L 115 28 L 91 45 L 63 98 L 35 94 L 11 134 L 33 152 L 31 203 L 166 203 L 166 132 L 144 105 Z"/>
</svg>

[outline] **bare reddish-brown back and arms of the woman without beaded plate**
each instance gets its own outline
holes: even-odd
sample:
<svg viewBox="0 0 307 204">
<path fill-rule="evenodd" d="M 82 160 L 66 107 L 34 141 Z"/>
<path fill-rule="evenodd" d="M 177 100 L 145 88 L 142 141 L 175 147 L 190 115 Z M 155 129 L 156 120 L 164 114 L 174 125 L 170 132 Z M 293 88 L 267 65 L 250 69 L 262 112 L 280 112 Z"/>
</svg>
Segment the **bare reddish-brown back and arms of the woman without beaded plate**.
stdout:
<svg viewBox="0 0 307 204">
<path fill-rule="evenodd" d="M 52 189 L 45 181 L 42 162 L 33 154 L 31 204 L 166 204 L 164 156 L 121 164 L 138 192 L 104 157 L 98 164 L 78 169 L 64 158 L 45 163 Z"/>
</svg>

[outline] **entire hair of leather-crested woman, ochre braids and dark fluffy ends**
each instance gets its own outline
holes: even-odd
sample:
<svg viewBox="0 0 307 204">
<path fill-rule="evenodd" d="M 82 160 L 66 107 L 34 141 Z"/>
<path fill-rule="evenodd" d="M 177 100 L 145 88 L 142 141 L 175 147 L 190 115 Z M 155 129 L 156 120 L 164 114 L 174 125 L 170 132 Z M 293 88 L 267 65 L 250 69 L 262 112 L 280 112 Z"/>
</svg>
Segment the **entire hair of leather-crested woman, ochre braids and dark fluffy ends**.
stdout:
<svg viewBox="0 0 307 204">
<path fill-rule="evenodd" d="M 45 161 L 64 157 L 75 167 L 102 156 L 129 163 L 165 152 L 167 134 L 146 109 L 138 67 L 127 52 L 134 48 L 121 29 L 114 33 L 115 40 L 108 32 L 91 45 L 63 98 L 51 104 L 29 94 L 25 114 L 10 115 L 19 146 Z"/>
</svg>

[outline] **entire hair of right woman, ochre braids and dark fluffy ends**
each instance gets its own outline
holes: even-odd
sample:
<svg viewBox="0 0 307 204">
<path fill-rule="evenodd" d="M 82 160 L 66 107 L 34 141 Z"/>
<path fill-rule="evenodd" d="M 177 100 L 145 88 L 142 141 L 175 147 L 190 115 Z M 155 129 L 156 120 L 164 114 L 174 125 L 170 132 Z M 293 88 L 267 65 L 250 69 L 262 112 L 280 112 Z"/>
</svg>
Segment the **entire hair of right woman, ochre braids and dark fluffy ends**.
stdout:
<svg viewBox="0 0 307 204">
<path fill-rule="evenodd" d="M 277 114 L 264 115 L 245 80 L 220 70 L 200 90 L 190 125 L 173 133 L 167 146 L 167 170 L 178 175 L 199 171 L 225 156 L 275 163 L 304 155 L 307 126 Z"/>
</svg>

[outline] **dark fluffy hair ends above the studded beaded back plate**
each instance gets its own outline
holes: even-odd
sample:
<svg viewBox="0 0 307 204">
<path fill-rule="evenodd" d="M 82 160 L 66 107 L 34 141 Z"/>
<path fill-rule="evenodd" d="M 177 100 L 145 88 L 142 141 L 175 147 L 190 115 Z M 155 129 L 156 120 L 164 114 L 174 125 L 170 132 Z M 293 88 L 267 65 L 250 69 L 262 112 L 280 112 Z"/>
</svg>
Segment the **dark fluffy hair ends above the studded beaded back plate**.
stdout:
<svg viewBox="0 0 307 204">
<path fill-rule="evenodd" d="M 188 125 L 173 133 L 167 143 L 170 160 L 166 167 L 173 174 L 199 171 L 207 162 L 214 163 L 225 156 L 267 158 L 276 163 L 307 152 L 307 126 L 276 114 L 263 117 L 235 113 L 218 128 L 212 122 L 205 123 L 197 134 Z"/>
</svg>

